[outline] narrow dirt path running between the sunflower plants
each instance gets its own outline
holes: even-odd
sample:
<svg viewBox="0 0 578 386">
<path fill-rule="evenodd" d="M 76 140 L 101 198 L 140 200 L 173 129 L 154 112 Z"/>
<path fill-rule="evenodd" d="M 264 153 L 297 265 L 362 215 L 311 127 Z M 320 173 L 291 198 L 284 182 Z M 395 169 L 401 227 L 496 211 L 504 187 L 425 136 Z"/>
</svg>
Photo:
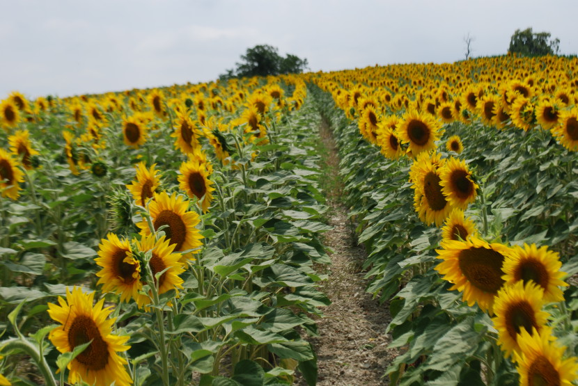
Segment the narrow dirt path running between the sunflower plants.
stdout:
<svg viewBox="0 0 578 386">
<path fill-rule="evenodd" d="M 318 385 L 388 385 L 382 375 L 397 351 L 388 349 L 391 341 L 385 328 L 391 316 L 387 304 L 380 305 L 365 292 L 361 266 L 364 248 L 355 245 L 347 209 L 340 202 L 342 186 L 338 179 L 338 154 L 326 122 L 320 127 L 327 180 L 323 182 L 331 207 L 325 245 L 333 253 L 329 280 L 320 288 L 329 296 L 325 318 L 318 320 L 320 337 L 309 339 L 318 356 Z M 297 385 L 306 385 L 299 380 Z"/>
</svg>

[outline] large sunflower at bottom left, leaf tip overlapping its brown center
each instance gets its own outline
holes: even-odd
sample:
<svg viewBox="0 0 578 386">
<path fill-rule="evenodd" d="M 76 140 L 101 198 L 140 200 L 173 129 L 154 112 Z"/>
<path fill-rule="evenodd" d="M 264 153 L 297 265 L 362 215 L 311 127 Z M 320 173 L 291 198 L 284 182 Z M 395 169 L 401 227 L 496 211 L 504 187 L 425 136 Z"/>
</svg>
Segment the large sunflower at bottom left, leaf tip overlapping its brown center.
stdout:
<svg viewBox="0 0 578 386">
<path fill-rule="evenodd" d="M 66 300 L 58 296 L 59 305 L 48 303 L 48 314 L 62 325 L 48 335 L 61 353 L 69 353 L 76 346 L 92 341 L 90 346 L 68 364 L 68 383 L 82 381 L 90 385 L 130 385 L 132 380 L 125 370 L 127 361 L 118 355 L 130 346 L 129 337 L 112 334 L 116 318 L 107 319 L 112 310 L 102 308 L 104 298 L 94 306 L 94 292 L 84 294 L 80 287 L 66 289 Z"/>
</svg>

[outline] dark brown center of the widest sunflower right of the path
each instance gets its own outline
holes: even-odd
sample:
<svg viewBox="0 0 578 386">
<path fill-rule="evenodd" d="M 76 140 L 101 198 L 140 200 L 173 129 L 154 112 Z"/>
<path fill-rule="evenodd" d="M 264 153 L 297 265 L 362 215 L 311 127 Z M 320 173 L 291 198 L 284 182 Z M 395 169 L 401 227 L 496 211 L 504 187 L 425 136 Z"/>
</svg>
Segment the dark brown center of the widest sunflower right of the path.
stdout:
<svg viewBox="0 0 578 386">
<path fill-rule="evenodd" d="M 460 270 L 474 287 L 489 293 L 497 293 L 502 287 L 501 253 L 483 247 L 472 247 L 462 250 L 458 261 Z"/>
</svg>

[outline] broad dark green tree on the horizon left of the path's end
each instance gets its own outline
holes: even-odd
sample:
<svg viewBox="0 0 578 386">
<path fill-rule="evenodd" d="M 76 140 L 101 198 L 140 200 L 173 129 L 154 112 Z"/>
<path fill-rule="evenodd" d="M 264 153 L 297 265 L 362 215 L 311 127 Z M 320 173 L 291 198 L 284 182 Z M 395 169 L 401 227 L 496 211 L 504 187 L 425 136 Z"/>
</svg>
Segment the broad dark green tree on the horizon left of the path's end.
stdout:
<svg viewBox="0 0 578 386">
<path fill-rule="evenodd" d="M 306 70 L 308 65 L 307 59 L 299 58 L 293 54 L 287 54 L 283 58 L 279 55 L 276 47 L 270 45 L 256 45 L 253 48 L 248 48 L 241 59 L 241 63 L 235 63 L 237 65 L 236 70 L 226 70 L 226 74 L 221 74 L 219 79 L 299 74 Z"/>
</svg>

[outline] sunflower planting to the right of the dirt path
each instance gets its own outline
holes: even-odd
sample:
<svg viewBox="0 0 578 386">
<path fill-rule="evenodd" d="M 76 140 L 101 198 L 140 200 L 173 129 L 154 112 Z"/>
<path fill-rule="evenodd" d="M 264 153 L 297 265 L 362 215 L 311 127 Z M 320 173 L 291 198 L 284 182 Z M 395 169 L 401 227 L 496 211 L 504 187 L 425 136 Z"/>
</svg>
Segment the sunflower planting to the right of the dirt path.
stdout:
<svg viewBox="0 0 578 386">
<path fill-rule="evenodd" d="M 369 291 L 391 309 L 393 383 L 578 379 L 577 64 L 502 56 L 312 78 Z"/>
</svg>

